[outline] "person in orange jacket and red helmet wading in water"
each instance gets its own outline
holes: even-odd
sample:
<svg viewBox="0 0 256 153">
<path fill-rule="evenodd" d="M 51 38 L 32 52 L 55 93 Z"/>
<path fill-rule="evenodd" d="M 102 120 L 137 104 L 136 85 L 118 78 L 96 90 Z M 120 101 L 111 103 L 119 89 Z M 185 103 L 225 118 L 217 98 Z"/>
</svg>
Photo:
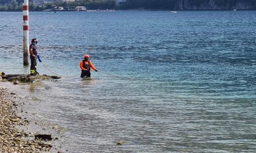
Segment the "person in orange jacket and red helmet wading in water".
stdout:
<svg viewBox="0 0 256 153">
<path fill-rule="evenodd" d="M 80 69 L 82 70 L 81 78 L 83 77 L 91 77 L 90 69 L 95 70 L 95 72 L 98 72 L 98 70 L 93 66 L 93 63 L 89 60 L 90 56 L 85 55 L 84 60 L 80 62 Z"/>
</svg>

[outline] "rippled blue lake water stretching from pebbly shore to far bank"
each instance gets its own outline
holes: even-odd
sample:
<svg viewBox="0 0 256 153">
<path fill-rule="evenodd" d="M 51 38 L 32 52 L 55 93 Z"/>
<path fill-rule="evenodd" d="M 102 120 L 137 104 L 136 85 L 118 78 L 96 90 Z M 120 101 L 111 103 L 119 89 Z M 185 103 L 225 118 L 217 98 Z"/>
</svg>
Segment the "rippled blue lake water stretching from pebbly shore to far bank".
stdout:
<svg viewBox="0 0 256 153">
<path fill-rule="evenodd" d="M 29 17 L 38 72 L 63 78 L 16 89 L 34 100 L 30 109 L 66 129 L 64 151 L 256 152 L 255 11 Z M 22 19 L 0 12 L 5 73 L 30 72 Z M 82 80 L 87 53 L 99 72 Z"/>
</svg>

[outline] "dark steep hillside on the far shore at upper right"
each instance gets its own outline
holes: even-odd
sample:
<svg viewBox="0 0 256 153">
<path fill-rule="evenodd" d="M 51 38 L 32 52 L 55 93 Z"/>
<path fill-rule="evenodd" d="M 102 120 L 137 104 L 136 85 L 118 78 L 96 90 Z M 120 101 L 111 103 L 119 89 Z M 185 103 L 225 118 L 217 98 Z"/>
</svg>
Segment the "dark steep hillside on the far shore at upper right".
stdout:
<svg viewBox="0 0 256 153">
<path fill-rule="evenodd" d="M 256 0 L 127 0 L 120 9 L 152 10 L 255 10 Z"/>
</svg>

